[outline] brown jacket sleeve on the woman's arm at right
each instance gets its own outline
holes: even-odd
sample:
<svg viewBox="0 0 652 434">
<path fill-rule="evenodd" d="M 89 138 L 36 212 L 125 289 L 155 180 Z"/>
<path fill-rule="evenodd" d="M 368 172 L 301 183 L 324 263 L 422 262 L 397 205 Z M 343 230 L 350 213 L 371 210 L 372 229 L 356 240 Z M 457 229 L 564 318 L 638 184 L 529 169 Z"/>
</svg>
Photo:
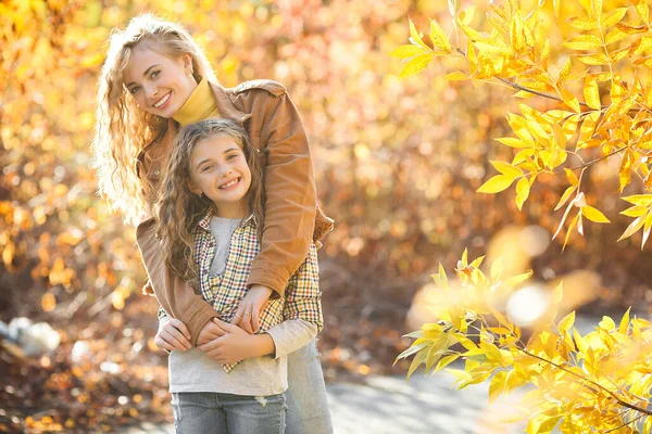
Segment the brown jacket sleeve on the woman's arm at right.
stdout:
<svg viewBox="0 0 652 434">
<path fill-rule="evenodd" d="M 267 154 L 265 227 L 248 284 L 262 284 L 284 295 L 290 276 L 308 254 L 316 214 L 308 138 L 286 92 L 269 98 L 261 142 Z"/>
</svg>

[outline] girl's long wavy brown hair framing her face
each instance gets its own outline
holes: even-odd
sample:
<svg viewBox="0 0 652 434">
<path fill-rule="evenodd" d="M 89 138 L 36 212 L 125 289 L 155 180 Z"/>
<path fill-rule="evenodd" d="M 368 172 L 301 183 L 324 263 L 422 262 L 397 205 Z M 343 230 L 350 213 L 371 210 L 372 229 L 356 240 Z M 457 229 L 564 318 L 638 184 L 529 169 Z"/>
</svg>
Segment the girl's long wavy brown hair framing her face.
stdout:
<svg viewBox="0 0 652 434">
<path fill-rule="evenodd" d="M 190 192 L 190 157 L 197 143 L 210 137 L 228 137 L 244 153 L 251 170 L 251 186 L 244 199 L 249 212 L 255 216 L 259 240 L 262 238 L 265 218 L 263 166 L 258 150 L 250 143 L 244 129 L 234 120 L 223 118 L 210 118 L 181 128 L 174 140 L 167 166 L 163 170 L 162 191 L 154 206 L 154 230 L 163 243 L 168 269 L 196 288 L 198 273 L 193 258 L 193 231 L 199 220 L 211 207 L 215 207 L 215 204 L 204 194 L 198 196 Z"/>
</svg>

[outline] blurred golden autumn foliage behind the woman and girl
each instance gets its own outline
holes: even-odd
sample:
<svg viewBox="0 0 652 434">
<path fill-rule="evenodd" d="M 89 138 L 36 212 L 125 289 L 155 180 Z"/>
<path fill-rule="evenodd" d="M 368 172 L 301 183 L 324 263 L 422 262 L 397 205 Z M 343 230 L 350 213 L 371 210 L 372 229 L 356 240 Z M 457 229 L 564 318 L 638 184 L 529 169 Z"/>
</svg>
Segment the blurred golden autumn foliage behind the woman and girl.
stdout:
<svg viewBox="0 0 652 434">
<path fill-rule="evenodd" d="M 431 320 L 421 302 L 430 275 L 438 263 L 452 271 L 465 246 L 469 257 L 506 255 L 513 272 L 535 269 L 538 285 L 515 311 L 561 278 L 567 309 L 648 310 L 652 257 L 640 234 L 616 244 L 630 220 L 618 216 L 617 169 L 594 166 L 585 191 L 612 224 L 587 227 L 562 254 L 550 239 L 563 179 L 539 178 L 523 212 L 513 189 L 475 193 L 492 175 L 489 159 L 512 157 L 492 140 L 507 135 L 512 92 L 447 82 L 451 61 L 398 79 L 402 65 L 388 53 L 408 43 L 408 18 L 447 23 L 446 2 L 373 4 L 0 3 L 0 431 L 171 420 L 134 228 L 97 196 L 89 169 L 105 39 L 142 12 L 186 26 L 223 86 L 278 80 L 301 113 L 319 199 L 336 220 L 319 251 L 327 381 L 404 373 L 392 367 L 410 344 L 401 335 Z"/>
</svg>

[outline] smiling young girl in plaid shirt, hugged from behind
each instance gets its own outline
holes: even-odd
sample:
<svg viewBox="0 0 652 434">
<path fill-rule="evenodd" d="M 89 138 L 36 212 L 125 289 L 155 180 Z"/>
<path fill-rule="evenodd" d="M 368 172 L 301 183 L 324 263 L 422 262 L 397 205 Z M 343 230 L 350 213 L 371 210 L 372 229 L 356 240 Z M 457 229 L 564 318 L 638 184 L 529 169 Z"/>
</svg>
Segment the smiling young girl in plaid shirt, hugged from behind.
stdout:
<svg viewBox="0 0 652 434">
<path fill-rule="evenodd" d="M 284 433 L 286 354 L 322 328 L 314 244 L 285 296 L 262 310 L 259 334 L 224 322 L 236 315 L 260 251 L 265 199 L 259 165 L 244 130 L 214 118 L 180 130 L 164 170 L 155 228 L 165 263 L 222 320 L 214 320 L 220 326 L 214 340 L 186 352 L 175 323 L 160 315 L 156 343 L 172 350 L 170 391 L 178 432 Z"/>
</svg>

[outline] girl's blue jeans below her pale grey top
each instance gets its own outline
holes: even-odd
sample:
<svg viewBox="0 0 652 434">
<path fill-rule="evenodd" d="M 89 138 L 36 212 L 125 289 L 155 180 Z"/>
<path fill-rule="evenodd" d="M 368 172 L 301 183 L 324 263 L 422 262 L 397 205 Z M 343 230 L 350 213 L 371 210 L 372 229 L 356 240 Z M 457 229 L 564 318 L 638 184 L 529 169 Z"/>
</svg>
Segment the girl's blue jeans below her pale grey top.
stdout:
<svg viewBox="0 0 652 434">
<path fill-rule="evenodd" d="M 284 434 L 284 394 L 264 397 L 206 392 L 172 394 L 177 434 Z"/>
</svg>

